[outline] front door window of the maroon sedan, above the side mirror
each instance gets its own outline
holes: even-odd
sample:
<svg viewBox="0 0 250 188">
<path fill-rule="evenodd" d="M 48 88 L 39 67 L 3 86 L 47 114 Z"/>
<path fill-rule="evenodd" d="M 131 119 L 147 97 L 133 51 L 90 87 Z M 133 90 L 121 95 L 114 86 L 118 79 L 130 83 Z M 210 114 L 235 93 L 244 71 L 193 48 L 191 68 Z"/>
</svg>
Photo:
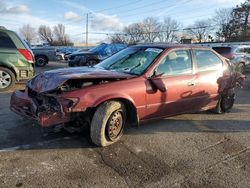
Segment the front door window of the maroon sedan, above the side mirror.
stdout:
<svg viewBox="0 0 250 188">
<path fill-rule="evenodd" d="M 189 50 L 176 50 L 170 52 L 158 65 L 156 74 L 164 76 L 177 76 L 191 74 L 192 58 Z"/>
</svg>

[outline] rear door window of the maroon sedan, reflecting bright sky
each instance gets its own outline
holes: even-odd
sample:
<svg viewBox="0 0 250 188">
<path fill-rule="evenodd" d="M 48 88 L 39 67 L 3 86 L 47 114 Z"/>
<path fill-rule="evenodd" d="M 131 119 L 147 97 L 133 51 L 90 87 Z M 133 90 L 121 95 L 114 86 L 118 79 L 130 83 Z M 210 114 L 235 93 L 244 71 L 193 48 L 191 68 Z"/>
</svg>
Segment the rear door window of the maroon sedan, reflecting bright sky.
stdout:
<svg viewBox="0 0 250 188">
<path fill-rule="evenodd" d="M 194 50 L 197 71 L 210 71 L 222 69 L 222 60 L 210 50 Z"/>
</svg>

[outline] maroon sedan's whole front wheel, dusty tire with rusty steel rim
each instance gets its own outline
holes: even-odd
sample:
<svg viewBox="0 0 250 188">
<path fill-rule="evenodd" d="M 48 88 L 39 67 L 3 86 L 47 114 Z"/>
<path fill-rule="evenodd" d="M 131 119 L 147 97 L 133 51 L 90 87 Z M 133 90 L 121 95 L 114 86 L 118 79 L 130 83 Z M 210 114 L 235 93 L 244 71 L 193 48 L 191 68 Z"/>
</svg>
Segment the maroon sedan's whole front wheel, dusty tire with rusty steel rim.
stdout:
<svg viewBox="0 0 250 188">
<path fill-rule="evenodd" d="M 97 108 L 91 122 L 92 142 L 102 147 L 117 142 L 123 135 L 125 124 L 125 106 L 118 101 L 104 102 Z"/>
</svg>

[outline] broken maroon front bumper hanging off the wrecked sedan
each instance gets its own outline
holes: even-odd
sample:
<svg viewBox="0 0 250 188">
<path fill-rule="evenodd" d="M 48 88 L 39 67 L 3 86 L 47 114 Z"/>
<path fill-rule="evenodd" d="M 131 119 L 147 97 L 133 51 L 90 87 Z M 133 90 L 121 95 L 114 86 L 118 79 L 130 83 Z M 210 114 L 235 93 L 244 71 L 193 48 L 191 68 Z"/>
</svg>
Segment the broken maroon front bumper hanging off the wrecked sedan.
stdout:
<svg viewBox="0 0 250 188">
<path fill-rule="evenodd" d="M 37 107 L 35 103 L 24 90 L 16 91 L 12 94 L 10 101 L 10 109 L 18 115 L 35 119 L 42 127 L 49 127 L 71 121 L 70 113 L 37 113 Z"/>
</svg>

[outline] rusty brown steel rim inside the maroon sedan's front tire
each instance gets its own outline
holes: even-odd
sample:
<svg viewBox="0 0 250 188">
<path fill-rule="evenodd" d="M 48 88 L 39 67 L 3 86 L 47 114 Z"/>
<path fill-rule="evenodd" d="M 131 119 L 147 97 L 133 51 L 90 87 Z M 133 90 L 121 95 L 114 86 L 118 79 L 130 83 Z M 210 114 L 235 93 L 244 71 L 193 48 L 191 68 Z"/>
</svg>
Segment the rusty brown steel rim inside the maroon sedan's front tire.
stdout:
<svg viewBox="0 0 250 188">
<path fill-rule="evenodd" d="M 113 141 L 120 136 L 123 129 L 123 116 L 121 111 L 115 111 L 109 118 L 106 126 L 106 135 Z"/>
</svg>

